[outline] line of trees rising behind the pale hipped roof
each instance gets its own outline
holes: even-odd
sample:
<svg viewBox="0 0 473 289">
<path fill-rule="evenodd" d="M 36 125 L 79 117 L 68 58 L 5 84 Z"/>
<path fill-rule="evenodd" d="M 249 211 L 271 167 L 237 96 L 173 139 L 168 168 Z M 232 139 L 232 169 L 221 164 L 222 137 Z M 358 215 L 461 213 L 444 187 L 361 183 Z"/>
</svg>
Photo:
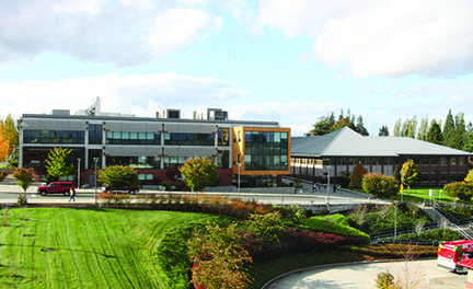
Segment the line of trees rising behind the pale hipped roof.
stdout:
<svg viewBox="0 0 473 289">
<path fill-rule="evenodd" d="M 320 117 L 319 120 L 313 124 L 310 135 L 323 136 L 345 126 L 362 136 L 369 136 L 362 117 L 353 115 L 349 109 L 347 115 L 342 111 L 338 117 L 335 117 L 333 112 L 327 116 Z M 404 120 L 397 118 L 392 132 L 394 137 L 415 138 L 458 150 L 473 152 L 473 124 L 470 122 L 466 125 L 464 114 L 458 113 L 453 116 L 451 109 L 449 109 L 445 122 L 441 119 L 430 120 L 428 116 L 420 118 L 420 120 L 418 120 L 417 116 Z M 378 136 L 390 136 L 388 125 L 382 125 L 379 128 Z"/>
</svg>

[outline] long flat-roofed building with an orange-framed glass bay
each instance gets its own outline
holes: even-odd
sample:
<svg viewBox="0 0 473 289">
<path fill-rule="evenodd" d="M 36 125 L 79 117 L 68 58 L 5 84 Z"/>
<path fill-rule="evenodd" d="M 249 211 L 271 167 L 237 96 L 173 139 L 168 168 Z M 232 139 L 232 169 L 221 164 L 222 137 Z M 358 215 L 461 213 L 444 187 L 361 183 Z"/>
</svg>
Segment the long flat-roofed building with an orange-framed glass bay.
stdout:
<svg viewBox="0 0 473 289">
<path fill-rule="evenodd" d="M 80 166 L 80 184 L 95 183 L 95 167 L 129 165 L 142 184 L 159 185 L 173 181 L 176 169 L 196 155 L 219 165 L 219 185 L 277 186 L 290 173 L 290 129 L 276 122 L 230 120 L 220 108 L 195 112 L 192 119 L 181 118 L 180 109 L 136 117 L 96 108 L 74 115 L 62 109 L 24 114 L 19 120 L 20 166 L 45 177 L 48 152 L 68 148 L 68 162 Z"/>
</svg>

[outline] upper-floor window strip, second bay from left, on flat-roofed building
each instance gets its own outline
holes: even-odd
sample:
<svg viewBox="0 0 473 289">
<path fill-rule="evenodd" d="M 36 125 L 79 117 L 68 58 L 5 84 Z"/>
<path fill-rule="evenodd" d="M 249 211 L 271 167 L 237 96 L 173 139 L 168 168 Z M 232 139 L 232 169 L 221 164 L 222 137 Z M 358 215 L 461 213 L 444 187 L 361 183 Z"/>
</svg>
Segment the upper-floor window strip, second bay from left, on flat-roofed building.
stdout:
<svg viewBox="0 0 473 289">
<path fill-rule="evenodd" d="M 107 144 L 161 144 L 161 134 L 152 131 L 107 131 Z"/>
</svg>

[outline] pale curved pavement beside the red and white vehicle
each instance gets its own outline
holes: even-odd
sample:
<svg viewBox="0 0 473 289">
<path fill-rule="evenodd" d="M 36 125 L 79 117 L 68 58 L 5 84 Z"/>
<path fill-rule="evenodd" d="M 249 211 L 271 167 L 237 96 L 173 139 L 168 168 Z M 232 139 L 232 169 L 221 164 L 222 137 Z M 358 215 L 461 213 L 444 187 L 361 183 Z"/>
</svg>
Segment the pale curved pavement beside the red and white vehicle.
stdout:
<svg viewBox="0 0 473 289">
<path fill-rule="evenodd" d="M 403 288 L 465 288 L 466 275 L 438 267 L 436 259 L 325 265 L 297 270 L 267 284 L 265 289 L 377 288 L 377 275 L 389 270 L 395 280 L 409 284 Z"/>
</svg>

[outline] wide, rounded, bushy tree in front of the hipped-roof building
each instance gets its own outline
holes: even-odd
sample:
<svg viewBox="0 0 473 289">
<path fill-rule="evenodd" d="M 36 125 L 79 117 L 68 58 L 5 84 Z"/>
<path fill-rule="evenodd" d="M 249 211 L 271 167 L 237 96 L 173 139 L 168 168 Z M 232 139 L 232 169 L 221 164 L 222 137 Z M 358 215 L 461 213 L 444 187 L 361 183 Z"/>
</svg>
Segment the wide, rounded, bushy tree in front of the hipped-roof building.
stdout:
<svg viewBox="0 0 473 289">
<path fill-rule="evenodd" d="M 362 188 L 376 198 L 390 198 L 399 193 L 399 184 L 394 176 L 369 173 L 362 178 Z"/>
</svg>

